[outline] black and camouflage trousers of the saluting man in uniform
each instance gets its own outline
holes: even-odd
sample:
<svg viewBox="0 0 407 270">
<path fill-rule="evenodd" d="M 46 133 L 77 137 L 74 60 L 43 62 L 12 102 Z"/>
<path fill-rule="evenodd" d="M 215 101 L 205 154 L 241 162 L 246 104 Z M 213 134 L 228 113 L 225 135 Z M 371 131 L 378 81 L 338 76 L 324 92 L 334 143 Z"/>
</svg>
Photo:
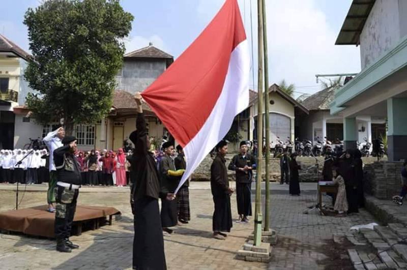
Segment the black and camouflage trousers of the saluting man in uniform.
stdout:
<svg viewBox="0 0 407 270">
<path fill-rule="evenodd" d="M 55 187 L 55 238 L 68 239 L 71 236 L 72 222 L 76 210 L 79 189 Z"/>
</svg>

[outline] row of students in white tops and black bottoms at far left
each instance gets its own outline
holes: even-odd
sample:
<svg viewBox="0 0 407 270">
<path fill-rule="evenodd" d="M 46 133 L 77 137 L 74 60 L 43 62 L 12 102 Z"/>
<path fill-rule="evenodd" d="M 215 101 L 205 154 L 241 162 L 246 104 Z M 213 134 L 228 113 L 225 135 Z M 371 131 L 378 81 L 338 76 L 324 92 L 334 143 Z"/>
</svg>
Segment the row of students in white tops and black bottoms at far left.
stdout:
<svg viewBox="0 0 407 270">
<path fill-rule="evenodd" d="M 49 181 L 47 150 L 1 150 L 0 183 L 42 184 Z"/>
</svg>

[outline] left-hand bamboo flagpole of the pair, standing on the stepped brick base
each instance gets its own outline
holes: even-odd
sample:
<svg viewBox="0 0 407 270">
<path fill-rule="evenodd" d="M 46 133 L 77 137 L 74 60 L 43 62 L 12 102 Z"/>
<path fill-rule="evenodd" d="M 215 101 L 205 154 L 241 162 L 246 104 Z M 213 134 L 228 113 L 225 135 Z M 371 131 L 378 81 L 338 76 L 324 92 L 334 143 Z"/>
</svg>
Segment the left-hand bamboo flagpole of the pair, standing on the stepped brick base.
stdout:
<svg viewBox="0 0 407 270">
<path fill-rule="evenodd" d="M 258 14 L 258 83 L 257 83 L 257 174 L 254 209 L 254 246 L 261 244 L 261 161 L 263 157 L 263 0 L 257 0 Z"/>
</svg>

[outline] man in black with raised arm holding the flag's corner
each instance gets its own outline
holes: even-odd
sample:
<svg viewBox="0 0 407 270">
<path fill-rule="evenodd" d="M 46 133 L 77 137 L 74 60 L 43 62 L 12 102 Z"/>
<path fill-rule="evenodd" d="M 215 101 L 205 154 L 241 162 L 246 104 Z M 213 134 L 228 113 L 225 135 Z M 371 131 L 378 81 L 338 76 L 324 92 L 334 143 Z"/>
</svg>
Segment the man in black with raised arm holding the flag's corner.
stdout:
<svg viewBox="0 0 407 270">
<path fill-rule="evenodd" d="M 134 215 L 133 269 L 166 269 L 164 240 L 158 198 L 175 198 L 161 192 L 157 164 L 150 149 L 146 120 L 141 107 L 141 95 L 136 93 L 138 114 L 136 130 L 129 139 L 135 145 L 131 159 L 131 197 Z"/>
</svg>

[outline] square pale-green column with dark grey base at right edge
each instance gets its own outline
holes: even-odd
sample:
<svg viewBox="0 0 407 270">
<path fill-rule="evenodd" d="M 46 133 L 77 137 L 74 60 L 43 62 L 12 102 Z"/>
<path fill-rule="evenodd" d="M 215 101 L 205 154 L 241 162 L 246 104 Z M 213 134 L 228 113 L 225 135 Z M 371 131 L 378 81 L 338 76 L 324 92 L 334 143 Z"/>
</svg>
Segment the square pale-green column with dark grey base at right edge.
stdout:
<svg viewBox="0 0 407 270">
<path fill-rule="evenodd" d="M 389 161 L 407 158 L 407 98 L 387 99 L 387 156 Z"/>
</svg>

